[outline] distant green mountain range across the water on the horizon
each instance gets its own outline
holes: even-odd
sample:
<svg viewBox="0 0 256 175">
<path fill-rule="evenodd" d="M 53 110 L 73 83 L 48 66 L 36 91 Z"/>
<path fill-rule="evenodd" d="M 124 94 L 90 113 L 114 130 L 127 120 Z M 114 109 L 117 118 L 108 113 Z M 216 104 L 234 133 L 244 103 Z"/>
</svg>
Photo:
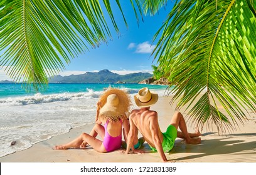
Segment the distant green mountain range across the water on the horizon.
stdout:
<svg viewBox="0 0 256 175">
<path fill-rule="evenodd" d="M 139 83 L 152 76 L 153 74 L 149 73 L 119 75 L 104 69 L 98 73 L 87 72 L 80 75 L 52 76 L 49 78 L 49 83 Z"/>
</svg>

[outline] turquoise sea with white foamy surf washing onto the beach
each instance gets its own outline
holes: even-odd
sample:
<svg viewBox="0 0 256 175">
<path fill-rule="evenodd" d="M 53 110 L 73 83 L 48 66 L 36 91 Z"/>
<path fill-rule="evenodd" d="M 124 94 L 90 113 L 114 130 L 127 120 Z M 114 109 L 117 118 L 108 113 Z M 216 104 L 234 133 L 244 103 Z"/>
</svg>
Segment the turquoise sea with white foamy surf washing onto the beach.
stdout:
<svg viewBox="0 0 256 175">
<path fill-rule="evenodd" d="M 0 157 L 67 133 L 95 121 L 95 104 L 105 88 L 120 88 L 131 95 L 147 87 L 164 96 L 164 85 L 49 84 L 46 91 L 27 93 L 21 84 L 0 84 Z M 133 100 L 132 100 L 133 101 Z M 10 146 L 16 141 L 14 146 Z"/>
</svg>

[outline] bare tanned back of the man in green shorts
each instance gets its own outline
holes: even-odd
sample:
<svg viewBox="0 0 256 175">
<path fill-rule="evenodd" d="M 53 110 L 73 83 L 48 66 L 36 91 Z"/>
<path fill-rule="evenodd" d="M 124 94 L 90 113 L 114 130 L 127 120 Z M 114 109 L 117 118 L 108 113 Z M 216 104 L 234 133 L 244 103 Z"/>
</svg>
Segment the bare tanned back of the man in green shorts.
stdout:
<svg viewBox="0 0 256 175">
<path fill-rule="evenodd" d="M 152 147 L 156 148 L 153 140 L 154 136 L 158 136 L 160 141 L 163 141 L 156 111 L 151 111 L 149 108 L 134 109 L 130 115 L 130 120 Z"/>
</svg>

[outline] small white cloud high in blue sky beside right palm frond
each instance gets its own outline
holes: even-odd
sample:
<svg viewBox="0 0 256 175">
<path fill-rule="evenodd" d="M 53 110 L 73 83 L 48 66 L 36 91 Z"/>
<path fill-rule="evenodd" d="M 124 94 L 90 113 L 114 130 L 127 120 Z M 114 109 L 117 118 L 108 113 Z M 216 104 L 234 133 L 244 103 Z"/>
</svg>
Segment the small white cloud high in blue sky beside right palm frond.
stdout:
<svg viewBox="0 0 256 175">
<path fill-rule="evenodd" d="M 142 42 L 137 45 L 134 42 L 131 42 L 128 46 L 128 49 L 136 48 L 135 53 L 151 54 L 155 47 L 156 45 L 149 44 L 149 41 Z"/>
</svg>

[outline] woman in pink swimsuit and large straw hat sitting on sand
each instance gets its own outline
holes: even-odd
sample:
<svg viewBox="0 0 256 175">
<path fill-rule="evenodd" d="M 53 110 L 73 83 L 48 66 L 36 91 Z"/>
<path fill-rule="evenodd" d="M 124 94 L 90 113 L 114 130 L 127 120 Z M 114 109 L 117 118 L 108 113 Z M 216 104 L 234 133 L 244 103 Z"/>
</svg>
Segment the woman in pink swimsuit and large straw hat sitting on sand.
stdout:
<svg viewBox="0 0 256 175">
<path fill-rule="evenodd" d="M 122 143 L 122 124 L 127 123 L 130 106 L 131 100 L 124 91 L 115 88 L 104 91 L 97 103 L 96 124 L 90 134 L 83 133 L 70 143 L 55 146 L 55 149 L 85 148 L 87 144 L 100 153 L 119 149 Z M 103 141 L 96 139 L 98 134 Z"/>
</svg>

